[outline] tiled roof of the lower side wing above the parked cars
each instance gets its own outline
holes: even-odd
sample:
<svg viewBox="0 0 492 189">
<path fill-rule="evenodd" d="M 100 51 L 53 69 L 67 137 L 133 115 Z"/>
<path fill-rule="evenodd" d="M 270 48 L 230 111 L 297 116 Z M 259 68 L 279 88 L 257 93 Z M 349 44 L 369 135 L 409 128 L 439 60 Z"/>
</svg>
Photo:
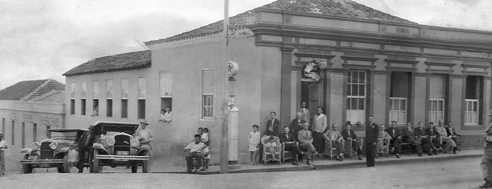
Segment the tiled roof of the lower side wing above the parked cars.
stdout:
<svg viewBox="0 0 492 189">
<path fill-rule="evenodd" d="M 114 56 L 94 58 L 82 65 L 65 72 L 64 76 L 90 74 L 98 72 L 114 72 L 119 70 L 134 70 L 150 67 L 150 51 L 122 53 Z"/>
</svg>

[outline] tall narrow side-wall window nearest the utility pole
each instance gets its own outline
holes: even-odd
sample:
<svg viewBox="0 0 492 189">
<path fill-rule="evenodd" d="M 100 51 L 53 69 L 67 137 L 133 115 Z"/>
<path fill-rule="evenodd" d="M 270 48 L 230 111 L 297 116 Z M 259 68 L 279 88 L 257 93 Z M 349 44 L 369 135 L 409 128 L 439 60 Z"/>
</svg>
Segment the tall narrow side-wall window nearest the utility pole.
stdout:
<svg viewBox="0 0 492 189">
<path fill-rule="evenodd" d="M 214 117 L 214 70 L 202 71 L 202 118 Z"/>
</svg>

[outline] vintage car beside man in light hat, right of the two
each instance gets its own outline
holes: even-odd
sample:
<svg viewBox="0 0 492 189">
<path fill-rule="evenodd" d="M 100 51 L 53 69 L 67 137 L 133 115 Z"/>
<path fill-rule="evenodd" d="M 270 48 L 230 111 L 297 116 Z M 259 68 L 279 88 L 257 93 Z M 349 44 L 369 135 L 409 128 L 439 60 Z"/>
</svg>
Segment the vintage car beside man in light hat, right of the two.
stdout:
<svg viewBox="0 0 492 189">
<path fill-rule="evenodd" d="M 142 172 L 148 173 L 150 146 L 134 137 L 138 123 L 96 122 L 93 126 L 98 135 L 93 144 L 93 173 L 101 173 L 103 166 L 131 167 L 132 173 L 142 166 Z"/>
</svg>

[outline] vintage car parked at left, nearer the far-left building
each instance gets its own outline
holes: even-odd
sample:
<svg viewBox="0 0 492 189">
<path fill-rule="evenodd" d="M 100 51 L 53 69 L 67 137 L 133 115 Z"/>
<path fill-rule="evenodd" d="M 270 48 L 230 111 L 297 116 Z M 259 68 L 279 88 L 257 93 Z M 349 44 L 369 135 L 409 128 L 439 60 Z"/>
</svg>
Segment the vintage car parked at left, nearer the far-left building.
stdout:
<svg viewBox="0 0 492 189">
<path fill-rule="evenodd" d="M 70 169 L 69 152 L 77 148 L 77 140 L 86 129 L 49 129 L 48 138 L 40 143 L 32 143 L 32 148 L 23 148 L 20 163 L 25 174 L 34 168 L 56 167 L 58 173 L 68 173 Z"/>
</svg>

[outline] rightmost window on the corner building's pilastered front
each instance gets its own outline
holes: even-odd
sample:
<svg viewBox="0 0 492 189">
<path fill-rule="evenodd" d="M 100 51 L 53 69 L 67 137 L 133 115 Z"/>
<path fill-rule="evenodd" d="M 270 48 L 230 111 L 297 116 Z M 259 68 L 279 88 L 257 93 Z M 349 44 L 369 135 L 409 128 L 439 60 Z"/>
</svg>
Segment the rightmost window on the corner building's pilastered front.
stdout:
<svg viewBox="0 0 492 189">
<path fill-rule="evenodd" d="M 469 75 L 466 78 L 465 125 L 481 124 L 483 77 Z"/>
</svg>

